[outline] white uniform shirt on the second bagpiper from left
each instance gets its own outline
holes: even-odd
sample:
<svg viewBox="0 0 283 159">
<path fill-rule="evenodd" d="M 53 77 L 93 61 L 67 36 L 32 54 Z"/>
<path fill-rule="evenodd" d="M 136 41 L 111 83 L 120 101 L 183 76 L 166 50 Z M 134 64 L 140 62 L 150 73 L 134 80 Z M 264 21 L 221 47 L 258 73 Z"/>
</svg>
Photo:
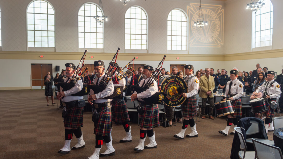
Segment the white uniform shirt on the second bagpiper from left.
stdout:
<svg viewBox="0 0 283 159">
<path fill-rule="evenodd" d="M 98 81 L 98 84 L 99 84 L 99 82 L 101 81 L 103 76 L 104 76 L 104 74 L 102 76 L 100 76 L 99 78 L 95 78 L 93 80 L 93 83 L 96 84 L 97 80 L 99 79 L 99 81 Z M 90 92 L 91 94 L 94 93 L 92 89 L 90 91 L 91 91 Z M 94 102 L 95 103 L 110 102 L 111 99 L 103 99 L 103 98 L 112 95 L 113 91 L 114 91 L 114 86 L 113 86 L 112 80 L 110 79 L 110 81 L 109 81 L 108 85 L 106 86 L 106 88 L 103 91 L 95 94 L 97 99 L 94 100 Z"/>
</svg>

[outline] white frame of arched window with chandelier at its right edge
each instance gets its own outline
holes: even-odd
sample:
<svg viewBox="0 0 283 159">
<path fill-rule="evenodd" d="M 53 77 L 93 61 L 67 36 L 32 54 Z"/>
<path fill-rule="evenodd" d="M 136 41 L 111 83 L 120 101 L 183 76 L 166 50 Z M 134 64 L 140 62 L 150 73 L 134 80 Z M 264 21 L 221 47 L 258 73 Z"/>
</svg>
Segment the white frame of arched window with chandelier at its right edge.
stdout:
<svg viewBox="0 0 283 159">
<path fill-rule="evenodd" d="M 79 14 L 79 11 L 80 11 L 80 8 L 82 8 L 84 5 L 86 5 L 86 4 L 93 4 L 93 5 L 95 5 L 96 7 L 98 7 L 99 8 L 99 5 L 98 4 L 96 4 L 96 3 L 93 3 L 93 2 L 87 2 L 87 3 L 84 3 L 82 6 L 80 6 L 79 8 L 78 8 L 78 14 Z M 101 10 L 101 8 L 99 8 L 100 9 L 100 11 L 102 12 L 102 14 L 104 15 L 104 12 Z M 95 15 L 96 16 L 96 15 Z M 83 17 L 85 17 L 85 15 L 83 16 Z M 79 18 L 79 15 L 77 15 L 77 18 Z M 90 18 L 93 18 L 92 16 L 90 17 Z M 79 23 L 79 19 L 77 19 L 77 22 Z M 85 22 L 85 21 L 84 21 Z M 99 22 L 98 22 L 99 23 Z M 79 41 L 78 41 L 78 51 L 79 52 L 84 52 L 85 51 L 85 49 L 87 49 L 88 50 L 88 52 L 104 52 L 104 23 L 105 22 L 103 22 L 101 25 L 102 25 L 102 48 L 79 48 Z M 100 25 L 100 24 L 98 24 L 98 25 Z M 79 32 L 79 24 L 78 24 L 78 27 L 77 27 L 77 29 L 78 29 L 78 39 L 79 39 L 79 33 L 97 33 L 97 32 Z M 85 42 L 84 42 L 84 44 L 85 44 Z M 97 44 L 97 43 L 96 43 Z"/>
</svg>

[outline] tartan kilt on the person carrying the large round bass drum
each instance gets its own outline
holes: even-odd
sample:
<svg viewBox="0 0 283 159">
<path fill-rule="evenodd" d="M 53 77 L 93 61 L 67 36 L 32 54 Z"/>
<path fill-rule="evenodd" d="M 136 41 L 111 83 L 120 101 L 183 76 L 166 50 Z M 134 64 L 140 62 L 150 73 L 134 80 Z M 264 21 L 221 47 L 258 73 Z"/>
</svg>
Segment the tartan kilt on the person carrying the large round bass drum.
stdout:
<svg viewBox="0 0 283 159">
<path fill-rule="evenodd" d="M 193 118 L 196 116 L 196 96 L 187 98 L 182 104 L 183 117 Z"/>
</svg>

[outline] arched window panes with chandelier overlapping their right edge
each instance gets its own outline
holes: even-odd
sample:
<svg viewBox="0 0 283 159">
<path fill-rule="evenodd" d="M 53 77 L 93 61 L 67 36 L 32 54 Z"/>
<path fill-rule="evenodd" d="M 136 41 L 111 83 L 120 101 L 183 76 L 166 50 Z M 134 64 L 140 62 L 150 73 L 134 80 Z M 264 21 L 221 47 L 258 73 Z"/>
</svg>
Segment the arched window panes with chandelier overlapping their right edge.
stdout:
<svg viewBox="0 0 283 159">
<path fill-rule="evenodd" d="M 79 48 L 103 48 L 103 23 L 96 22 L 93 18 L 102 15 L 100 8 L 92 3 L 83 5 L 79 16 Z"/>
</svg>

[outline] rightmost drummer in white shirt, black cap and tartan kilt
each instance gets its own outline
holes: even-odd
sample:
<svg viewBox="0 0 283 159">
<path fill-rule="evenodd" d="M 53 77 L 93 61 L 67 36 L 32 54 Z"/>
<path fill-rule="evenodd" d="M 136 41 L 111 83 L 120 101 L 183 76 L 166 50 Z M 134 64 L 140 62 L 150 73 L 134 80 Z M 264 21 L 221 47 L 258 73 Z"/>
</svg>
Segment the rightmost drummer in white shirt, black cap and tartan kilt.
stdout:
<svg viewBox="0 0 283 159">
<path fill-rule="evenodd" d="M 259 92 L 263 92 L 263 96 L 265 97 L 265 100 L 267 101 L 266 107 L 268 108 L 264 121 L 264 126 L 266 132 L 268 130 L 273 131 L 273 123 L 272 123 L 272 117 L 274 116 L 274 109 L 270 108 L 270 104 L 272 101 L 276 102 L 276 99 L 280 97 L 280 85 L 274 81 L 275 72 L 274 71 L 268 71 L 267 72 L 267 81 L 263 83 L 258 89 L 256 89 L 255 95 L 258 95 Z M 268 96 L 267 96 L 268 95 Z M 256 113 L 259 114 L 260 113 Z"/>
</svg>

